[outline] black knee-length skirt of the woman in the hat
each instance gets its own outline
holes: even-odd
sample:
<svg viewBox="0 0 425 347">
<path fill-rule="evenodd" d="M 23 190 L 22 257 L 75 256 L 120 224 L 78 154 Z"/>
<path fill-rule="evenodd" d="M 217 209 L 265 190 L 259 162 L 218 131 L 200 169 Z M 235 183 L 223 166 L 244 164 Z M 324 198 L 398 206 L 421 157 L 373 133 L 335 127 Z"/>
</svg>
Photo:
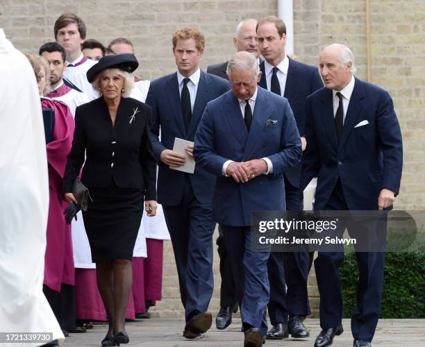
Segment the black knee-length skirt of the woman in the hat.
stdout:
<svg viewBox="0 0 425 347">
<path fill-rule="evenodd" d="M 90 188 L 87 212 L 83 212 L 92 261 L 133 259 L 143 214 L 143 192 L 120 188 L 111 183 L 104 188 Z"/>
</svg>

